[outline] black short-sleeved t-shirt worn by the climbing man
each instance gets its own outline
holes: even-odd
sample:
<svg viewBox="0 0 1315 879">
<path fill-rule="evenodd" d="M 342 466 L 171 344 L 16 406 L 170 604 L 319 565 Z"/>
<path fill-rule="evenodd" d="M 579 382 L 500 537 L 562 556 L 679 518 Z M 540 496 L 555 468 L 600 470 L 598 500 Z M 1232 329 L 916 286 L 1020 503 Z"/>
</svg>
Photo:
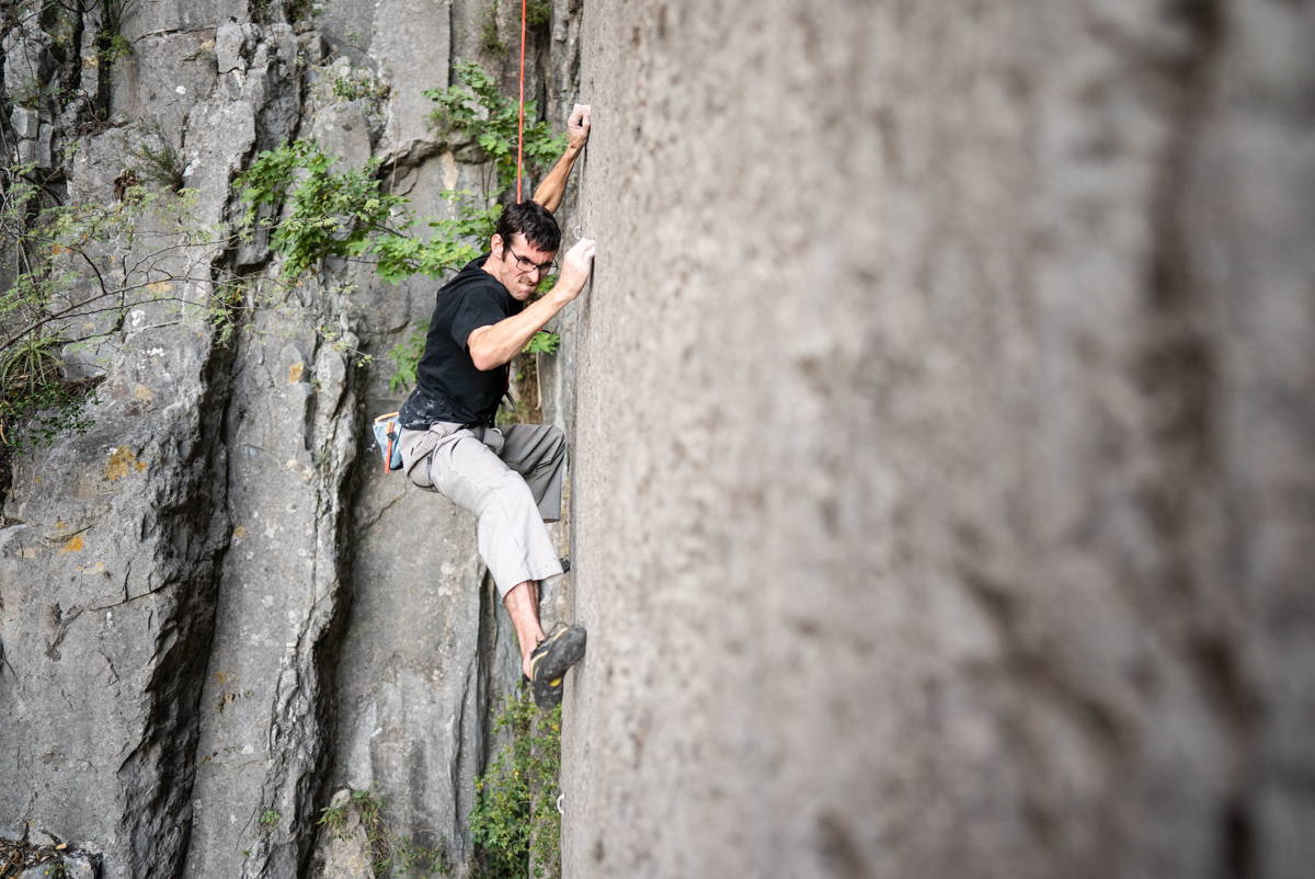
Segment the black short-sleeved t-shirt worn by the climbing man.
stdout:
<svg viewBox="0 0 1315 879">
<path fill-rule="evenodd" d="M 466 341 L 481 326 L 519 314 L 525 303 L 484 271 L 488 258 L 468 262 L 438 291 L 416 389 L 397 417 L 409 430 L 427 430 L 435 421 L 488 424 L 497 413 L 506 392 L 506 366 L 476 370 Z"/>
</svg>

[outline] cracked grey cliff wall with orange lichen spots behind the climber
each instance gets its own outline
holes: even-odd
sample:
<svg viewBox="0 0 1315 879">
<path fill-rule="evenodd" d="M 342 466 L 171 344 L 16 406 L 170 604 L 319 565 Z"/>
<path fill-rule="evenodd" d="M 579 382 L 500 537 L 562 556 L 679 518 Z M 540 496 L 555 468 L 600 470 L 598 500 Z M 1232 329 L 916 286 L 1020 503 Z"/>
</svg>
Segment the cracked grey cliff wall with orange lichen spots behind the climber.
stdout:
<svg viewBox="0 0 1315 879">
<path fill-rule="evenodd" d="M 481 168 L 427 128 L 421 92 L 447 86 L 458 58 L 510 76 L 509 54 L 481 50 L 485 5 L 337 0 L 302 21 L 285 5 L 129 4 L 133 53 L 113 64 L 85 38 L 97 9 L 82 58 L 60 62 L 36 25 L 9 32 L 11 95 L 25 78 L 76 86 L 67 105 L 14 111 L 17 146 L 74 203 L 112 203 L 138 145 L 168 142 L 199 191 L 195 220 L 222 225 L 259 150 L 313 137 L 348 164 L 384 157 L 389 186 L 442 214 L 438 191 Z M 579 7 L 556 3 L 554 21 L 531 34 L 527 82 L 564 129 Z M 87 108 L 107 120 L 91 137 L 74 124 Z M 368 421 L 404 396 L 384 354 L 438 284 L 330 264 L 272 304 L 277 261 L 259 236 L 172 268 L 201 301 L 212 275 L 249 279 L 235 333 L 134 311 L 75 355 L 79 375 L 107 376 L 95 428 L 16 465 L 0 528 L 0 846 L 107 879 L 372 875 L 359 824 L 342 840 L 317 825 L 351 788 L 383 797 L 389 833 L 460 861 L 473 775 L 501 743 L 490 711 L 519 678 L 514 634 L 473 520 L 366 451 Z M 560 383 L 544 391 L 559 422 Z M 546 620 L 562 600 L 544 596 Z"/>
</svg>

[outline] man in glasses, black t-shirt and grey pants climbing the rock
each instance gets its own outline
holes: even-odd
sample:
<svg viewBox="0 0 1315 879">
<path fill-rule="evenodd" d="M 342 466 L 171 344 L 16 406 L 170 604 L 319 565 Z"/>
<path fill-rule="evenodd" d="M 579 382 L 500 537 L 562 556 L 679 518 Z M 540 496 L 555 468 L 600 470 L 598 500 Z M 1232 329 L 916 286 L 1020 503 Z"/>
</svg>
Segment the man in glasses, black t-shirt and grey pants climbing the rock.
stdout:
<svg viewBox="0 0 1315 879">
<path fill-rule="evenodd" d="M 530 301 L 555 267 L 562 232 L 552 211 L 589 138 L 589 108 L 576 104 L 567 151 L 534 192 L 498 220 L 489 253 L 438 291 L 416 389 L 398 414 L 402 470 L 413 483 L 450 497 L 479 517 L 480 557 L 521 643 L 521 668 L 534 701 L 562 701 L 567 670 L 584 657 L 581 626 L 544 637 L 539 588 L 563 568 L 544 522 L 562 516 L 565 437 L 554 425 L 493 426 L 508 388 L 508 362 L 584 288 L 593 241 L 565 255 L 552 289 Z"/>
</svg>

